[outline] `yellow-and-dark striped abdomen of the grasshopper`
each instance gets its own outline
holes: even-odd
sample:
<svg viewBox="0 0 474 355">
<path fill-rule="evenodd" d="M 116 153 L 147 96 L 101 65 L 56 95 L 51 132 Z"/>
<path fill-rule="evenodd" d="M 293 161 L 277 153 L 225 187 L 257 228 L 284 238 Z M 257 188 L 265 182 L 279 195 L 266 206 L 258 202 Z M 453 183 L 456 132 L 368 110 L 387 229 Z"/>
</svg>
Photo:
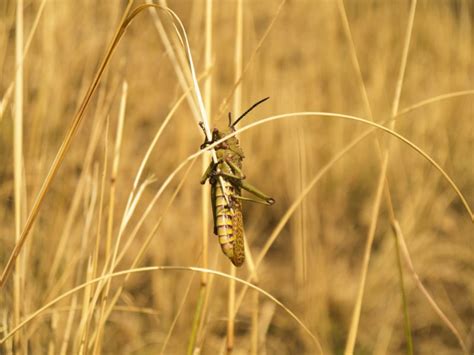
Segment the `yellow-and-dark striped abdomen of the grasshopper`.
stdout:
<svg viewBox="0 0 474 355">
<path fill-rule="evenodd" d="M 245 261 L 245 247 L 243 235 L 242 205 L 234 196 L 237 193 L 234 186 L 224 180 L 226 195 L 232 208 L 229 208 L 222 192 L 221 184 L 218 182 L 215 188 L 215 229 L 224 254 L 235 266 L 240 266 Z"/>
</svg>

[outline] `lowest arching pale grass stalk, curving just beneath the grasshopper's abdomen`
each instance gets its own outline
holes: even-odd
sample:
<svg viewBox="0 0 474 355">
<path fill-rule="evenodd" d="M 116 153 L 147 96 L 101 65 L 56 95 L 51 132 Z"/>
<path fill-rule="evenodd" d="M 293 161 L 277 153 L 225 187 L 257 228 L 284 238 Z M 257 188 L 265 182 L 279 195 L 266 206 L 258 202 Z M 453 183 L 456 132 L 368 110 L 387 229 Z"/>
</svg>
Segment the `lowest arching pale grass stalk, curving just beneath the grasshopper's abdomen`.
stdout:
<svg viewBox="0 0 474 355">
<path fill-rule="evenodd" d="M 321 344 L 319 343 L 319 340 L 317 337 L 304 325 L 304 323 L 296 316 L 288 307 L 286 307 L 283 303 L 278 301 L 274 296 L 272 296 L 269 292 L 263 290 L 262 288 L 255 286 L 254 284 L 247 282 L 245 280 L 242 280 L 238 277 L 235 276 L 230 276 L 224 272 L 216 271 L 216 270 L 211 270 L 211 269 L 204 269 L 204 268 L 199 268 L 199 267 L 193 267 L 193 266 L 149 266 L 149 267 L 142 267 L 142 268 L 136 268 L 136 269 L 128 269 L 128 270 L 123 270 L 123 271 L 118 271 L 114 272 L 112 274 L 107 274 L 103 275 L 101 277 L 97 277 L 95 279 L 92 279 L 88 282 L 85 282 L 79 286 L 74 287 L 73 289 L 63 293 L 62 295 L 56 297 L 54 300 L 48 302 L 44 306 L 40 307 L 37 309 L 35 312 L 33 312 L 31 315 L 26 317 L 20 324 L 18 324 L 15 328 L 13 328 L 8 334 L 6 334 L 2 339 L 0 339 L 0 344 L 5 343 L 9 338 L 11 338 L 17 331 L 22 329 L 26 324 L 34 320 L 36 317 L 38 317 L 40 314 L 42 314 L 45 310 L 48 308 L 54 306 L 61 300 L 75 294 L 76 292 L 84 289 L 85 287 L 88 287 L 90 285 L 96 284 L 98 282 L 106 281 L 108 279 L 114 278 L 114 277 L 119 277 L 119 276 L 126 276 L 130 274 L 135 274 L 135 273 L 141 273 L 141 272 L 150 272 L 150 271 L 193 271 L 193 272 L 200 272 L 200 273 L 208 273 L 208 274 L 213 274 L 216 276 L 220 276 L 226 279 L 234 279 L 238 283 L 241 283 L 243 285 L 246 285 L 256 291 L 258 291 L 260 294 L 264 295 L 268 299 L 270 299 L 272 302 L 280 306 L 286 313 L 288 313 L 297 323 L 298 325 L 303 328 L 303 330 L 310 336 L 310 338 L 313 340 L 313 342 L 316 344 L 316 346 L 319 349 L 320 353 L 323 353 L 323 350 L 321 348 Z"/>
</svg>

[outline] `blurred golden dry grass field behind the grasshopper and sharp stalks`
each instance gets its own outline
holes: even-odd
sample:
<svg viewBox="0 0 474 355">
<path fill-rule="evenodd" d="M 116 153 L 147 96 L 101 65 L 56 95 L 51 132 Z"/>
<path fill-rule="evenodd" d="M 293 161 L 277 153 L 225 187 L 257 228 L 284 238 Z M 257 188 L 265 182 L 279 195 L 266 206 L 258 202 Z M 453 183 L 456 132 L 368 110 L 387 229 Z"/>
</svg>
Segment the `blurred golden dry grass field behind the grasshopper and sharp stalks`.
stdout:
<svg viewBox="0 0 474 355">
<path fill-rule="evenodd" d="M 43 3 L 23 3 L 23 43 L 32 30 L 34 35 L 20 69 L 23 90 L 15 94 L 17 2 L 0 2 L 2 270 L 17 233 L 14 167 L 24 168 L 17 211 L 24 225 L 127 5 L 118 0 L 51 0 L 43 8 Z M 212 65 L 206 70 L 205 1 L 168 2 L 188 32 L 197 75 L 207 73 L 210 78 L 212 124 L 220 127 L 232 109 L 231 102 L 220 110 L 234 83 L 237 4 L 215 1 L 212 5 Z M 244 66 L 250 65 L 242 79 L 240 112 L 263 97 L 271 97 L 242 125 L 297 111 L 370 119 L 355 57 L 373 119 L 389 119 L 409 28 L 410 2 L 345 1 L 352 43 L 336 1 L 288 0 L 280 11 L 279 5 L 279 1 L 242 3 L 242 60 Z M 174 50 L 181 51 L 169 17 L 161 13 L 160 18 Z M 471 91 L 426 104 L 400 116 L 395 126 L 446 170 L 470 204 L 474 203 L 473 20 L 474 4 L 470 0 L 418 1 L 398 111 L 438 95 Z M 268 36 L 259 46 L 272 21 Z M 124 82 L 128 84 L 126 94 L 122 91 Z M 203 83 L 204 79 L 201 88 Z M 19 320 L 102 274 L 110 258 L 107 231 L 112 232 L 113 250 L 143 156 L 182 93 L 173 61 L 146 10 L 132 22 L 106 68 L 45 197 L 22 250 L 19 268 L 1 290 L 0 338 Z M 208 93 L 204 91 L 204 95 Z M 113 184 L 111 171 L 124 98 L 120 159 Z M 22 115 L 15 109 L 20 99 Z M 20 165 L 14 161 L 14 146 L 19 142 L 14 139 L 14 122 L 19 117 L 23 119 Z M 241 135 L 248 180 L 277 201 L 272 207 L 244 205 L 246 236 L 254 259 L 309 182 L 367 128 L 366 124 L 337 117 L 308 116 L 274 121 Z M 439 171 L 406 144 L 381 131 L 367 136 L 321 176 L 263 258 L 257 269 L 258 286 L 292 310 L 316 335 L 325 353 L 344 351 L 382 169 L 376 139 L 382 150 L 390 142 L 386 176 L 413 268 L 471 353 L 474 283 L 469 213 Z M 124 257 L 115 270 L 131 267 L 158 221 L 159 229 L 137 266 L 202 265 L 201 158 L 187 175 L 182 170 L 151 205 L 165 179 L 199 149 L 202 140 L 190 106 L 183 101 L 146 164 L 140 183 L 151 176 L 155 180 L 146 185 L 122 233 L 119 251 L 124 251 Z M 167 208 L 181 180 L 182 187 Z M 357 354 L 408 351 L 396 238 L 387 201 L 384 193 L 371 246 L 354 350 Z M 133 230 L 149 206 L 151 211 L 132 240 Z M 209 214 L 207 218 L 210 226 Z M 211 232 L 208 267 L 229 273 L 230 263 Z M 95 267 L 98 235 L 100 250 Z M 131 242 L 125 249 L 127 241 Z M 402 250 L 400 259 L 415 353 L 462 353 L 456 336 L 420 291 Z M 236 275 L 247 279 L 249 273 L 247 261 Z M 15 349 L 16 353 L 77 353 L 81 349 L 92 352 L 95 347 L 103 353 L 152 354 L 163 350 L 164 345 L 165 354 L 184 353 L 200 279 L 199 273 L 183 270 L 142 272 L 131 275 L 125 284 L 124 276 L 117 277 L 110 284 L 106 306 L 122 285 L 123 291 L 117 293 L 107 319 L 101 318 L 101 298 L 96 303 L 89 300 L 96 284 L 81 289 L 33 317 L 0 345 L 0 353 Z M 215 354 L 225 349 L 229 280 L 210 275 L 208 281 L 196 346 L 204 354 Z M 237 292 L 242 287 L 237 283 Z M 288 313 L 255 291 L 247 292 L 234 324 L 235 354 L 255 350 L 251 349 L 255 329 L 259 332 L 259 353 L 317 352 L 311 337 Z"/>
</svg>

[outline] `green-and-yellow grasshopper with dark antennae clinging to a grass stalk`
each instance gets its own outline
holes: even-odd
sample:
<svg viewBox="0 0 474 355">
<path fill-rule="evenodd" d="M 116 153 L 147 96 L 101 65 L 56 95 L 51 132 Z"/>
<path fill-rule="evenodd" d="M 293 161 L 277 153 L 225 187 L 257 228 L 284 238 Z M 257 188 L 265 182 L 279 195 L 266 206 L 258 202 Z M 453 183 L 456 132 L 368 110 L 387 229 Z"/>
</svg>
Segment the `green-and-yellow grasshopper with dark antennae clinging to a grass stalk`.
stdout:
<svg viewBox="0 0 474 355">
<path fill-rule="evenodd" d="M 232 122 L 232 114 L 229 112 L 227 129 L 219 131 L 214 128 L 212 140 L 209 141 L 206 137 L 201 149 L 235 132 L 235 125 L 256 106 L 268 99 L 269 97 L 252 105 L 234 122 Z M 200 122 L 200 126 L 204 130 L 202 122 Z M 205 184 L 207 179 L 211 184 L 214 234 L 219 239 L 221 249 L 235 266 L 241 266 L 245 261 L 242 201 L 273 205 L 275 200 L 245 180 L 245 175 L 242 172 L 242 160 L 245 155 L 236 136 L 218 144 L 215 150 L 217 162 L 209 164 L 201 178 L 201 184 Z M 250 192 L 255 197 L 242 196 L 242 190 Z"/>
</svg>

